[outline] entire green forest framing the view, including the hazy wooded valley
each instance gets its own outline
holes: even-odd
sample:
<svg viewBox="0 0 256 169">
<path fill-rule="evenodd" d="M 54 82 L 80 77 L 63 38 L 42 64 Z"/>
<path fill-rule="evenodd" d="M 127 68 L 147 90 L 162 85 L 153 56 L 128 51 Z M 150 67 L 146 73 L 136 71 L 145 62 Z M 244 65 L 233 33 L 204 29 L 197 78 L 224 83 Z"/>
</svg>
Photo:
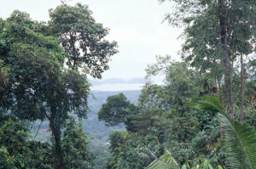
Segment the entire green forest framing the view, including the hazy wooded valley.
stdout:
<svg viewBox="0 0 256 169">
<path fill-rule="evenodd" d="M 173 3 L 181 61 L 123 93 L 90 91 L 119 51 L 87 5 L 0 18 L 0 168 L 256 168 L 256 1 Z"/>
</svg>

